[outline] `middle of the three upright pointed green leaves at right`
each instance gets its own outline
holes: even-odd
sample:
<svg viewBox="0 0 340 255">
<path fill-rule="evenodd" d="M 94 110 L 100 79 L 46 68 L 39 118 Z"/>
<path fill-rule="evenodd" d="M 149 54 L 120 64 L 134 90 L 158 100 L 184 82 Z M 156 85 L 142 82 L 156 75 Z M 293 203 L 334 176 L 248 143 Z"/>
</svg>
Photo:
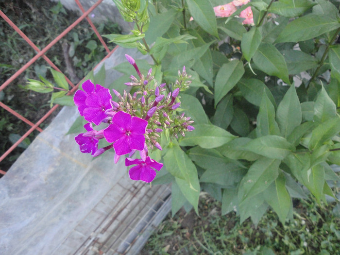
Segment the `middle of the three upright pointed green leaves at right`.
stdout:
<svg viewBox="0 0 340 255">
<path fill-rule="evenodd" d="M 301 104 L 294 85 L 290 86 L 278 105 L 275 119 L 283 137 L 288 137 L 293 129 L 300 125 L 302 121 Z"/>
</svg>

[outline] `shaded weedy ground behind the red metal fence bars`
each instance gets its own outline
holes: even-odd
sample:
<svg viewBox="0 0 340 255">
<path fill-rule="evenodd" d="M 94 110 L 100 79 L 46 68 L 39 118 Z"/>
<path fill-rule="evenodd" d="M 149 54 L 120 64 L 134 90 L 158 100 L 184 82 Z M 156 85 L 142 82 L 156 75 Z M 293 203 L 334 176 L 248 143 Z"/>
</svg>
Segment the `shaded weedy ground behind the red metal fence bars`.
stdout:
<svg viewBox="0 0 340 255">
<path fill-rule="evenodd" d="M 0 0 L 0 9 L 39 49 L 47 46 L 79 17 L 79 14 L 66 10 L 60 3 L 48 0 Z M 100 34 L 120 32 L 118 25 L 112 22 L 96 25 L 96 28 Z M 106 39 L 104 38 L 104 40 Z M 36 52 L 2 18 L 0 18 L 0 45 L 1 85 L 34 57 Z M 111 49 L 114 47 L 113 44 L 108 46 Z M 68 60 L 66 60 L 63 53 L 66 47 Z M 70 77 L 73 83 L 77 83 L 102 60 L 105 56 L 105 50 L 88 22 L 83 20 L 52 46 L 46 55 L 63 73 Z M 66 61 L 72 66 L 75 76 L 71 75 Z M 53 83 L 53 78 L 48 68 L 49 64 L 44 59 L 39 58 L 3 91 L 0 91 L 0 101 L 33 123 L 41 119 L 50 109 L 48 102 L 51 99 L 51 94 L 40 94 L 26 90 L 25 85 L 27 79 L 39 80 L 39 75 Z M 13 142 L 15 142 L 14 137 L 25 134 L 30 129 L 30 126 L 2 108 L 0 109 L 0 114 L 0 155 L 2 155 L 13 145 Z M 46 127 L 56 114 L 57 111 L 39 127 Z M 0 169 L 8 170 L 37 134 L 38 132 L 31 134 L 25 143 L 21 144 L 20 147 L 1 161 Z"/>
</svg>

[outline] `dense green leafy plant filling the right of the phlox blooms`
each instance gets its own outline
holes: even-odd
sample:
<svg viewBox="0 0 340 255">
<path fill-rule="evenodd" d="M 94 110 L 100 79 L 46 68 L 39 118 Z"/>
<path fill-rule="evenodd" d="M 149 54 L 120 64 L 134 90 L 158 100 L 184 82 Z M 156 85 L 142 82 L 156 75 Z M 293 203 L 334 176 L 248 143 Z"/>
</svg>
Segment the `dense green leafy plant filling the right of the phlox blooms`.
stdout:
<svg viewBox="0 0 340 255">
<path fill-rule="evenodd" d="M 197 211 L 202 189 L 221 200 L 222 214 L 236 209 L 241 222 L 258 222 L 269 207 L 285 222 L 304 188 L 319 204 L 335 198 L 338 2 L 242 1 L 227 17 L 213 8 L 227 0 L 114 2 L 135 29 L 107 38 L 149 54 L 167 84 L 183 65 L 193 77 L 181 108 L 195 131 L 161 144 L 168 173 L 154 181 L 172 182 L 173 214 L 186 204 Z M 253 25 L 240 18 L 248 7 Z"/>
</svg>

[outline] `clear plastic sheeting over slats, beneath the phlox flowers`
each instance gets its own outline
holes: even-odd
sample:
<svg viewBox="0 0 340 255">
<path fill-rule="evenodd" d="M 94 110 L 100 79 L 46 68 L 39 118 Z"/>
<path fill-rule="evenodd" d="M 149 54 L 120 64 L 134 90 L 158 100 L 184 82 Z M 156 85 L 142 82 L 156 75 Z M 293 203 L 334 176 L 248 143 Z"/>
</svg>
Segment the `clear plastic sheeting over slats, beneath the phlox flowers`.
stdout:
<svg viewBox="0 0 340 255">
<path fill-rule="evenodd" d="M 126 53 L 145 57 L 118 48 L 104 62 L 107 85 Z M 80 153 L 65 135 L 78 116 L 64 107 L 0 179 L 1 255 L 137 254 L 170 211 L 169 187 L 130 180 L 110 151 Z"/>
</svg>

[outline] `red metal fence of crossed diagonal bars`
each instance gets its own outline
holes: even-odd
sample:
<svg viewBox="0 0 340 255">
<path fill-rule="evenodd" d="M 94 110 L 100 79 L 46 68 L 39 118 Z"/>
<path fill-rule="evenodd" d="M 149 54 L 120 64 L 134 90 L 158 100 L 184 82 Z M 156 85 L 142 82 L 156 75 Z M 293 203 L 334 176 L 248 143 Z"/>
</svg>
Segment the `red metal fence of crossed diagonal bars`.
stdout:
<svg viewBox="0 0 340 255">
<path fill-rule="evenodd" d="M 117 47 L 115 47 L 112 51 L 109 50 L 107 45 L 105 44 L 104 40 L 102 39 L 102 36 L 98 33 L 98 30 L 96 29 L 95 25 L 92 23 L 91 19 L 87 17 L 103 0 L 98 0 L 94 5 L 92 5 L 87 11 L 84 10 L 82 4 L 79 2 L 79 0 L 75 0 L 77 5 L 79 6 L 80 10 L 83 12 L 83 15 L 79 17 L 76 21 L 74 21 L 67 29 L 65 29 L 64 32 L 59 34 L 55 39 L 53 39 L 46 47 L 44 47 L 42 50 L 39 50 L 38 47 L 24 34 L 17 26 L 14 24 L 1 10 L 0 10 L 0 16 L 37 52 L 37 54 L 30 60 L 28 61 L 25 65 L 23 65 L 20 69 L 17 70 L 16 73 L 14 73 L 7 81 L 5 81 L 2 85 L 0 85 L 0 91 L 4 90 L 7 86 L 13 85 L 13 81 L 21 74 L 23 73 L 27 68 L 29 68 L 34 62 L 39 59 L 43 58 L 46 60 L 46 62 L 51 66 L 51 68 L 61 72 L 59 68 L 53 64 L 53 62 L 45 55 L 47 51 L 51 49 L 53 45 L 55 45 L 60 39 L 63 38 L 68 32 L 70 32 L 77 24 L 79 24 L 83 19 L 86 18 L 88 23 L 90 24 L 91 28 L 97 35 L 98 39 L 102 43 L 103 47 L 105 48 L 106 51 L 106 56 L 102 59 L 106 59 L 109 57 Z M 66 80 L 68 81 L 68 84 L 72 87 L 71 92 L 74 92 L 79 84 L 74 85 L 68 77 L 65 75 Z M 9 106 L 4 104 L 3 102 L 0 102 L 0 107 L 5 109 L 6 111 L 10 112 L 14 116 L 16 116 L 18 119 L 21 121 L 24 121 L 28 125 L 31 126 L 31 128 L 23 135 L 21 136 L 20 139 L 17 140 L 5 153 L 3 153 L 0 156 L 0 162 L 8 156 L 27 136 L 29 136 L 34 130 L 37 130 L 39 132 L 42 132 L 42 129 L 39 127 L 39 125 L 47 119 L 51 115 L 52 112 L 54 112 L 58 108 L 58 104 L 54 105 L 41 119 L 39 119 L 36 123 L 31 122 L 29 119 L 26 119 L 19 113 L 17 113 L 15 110 L 11 109 Z M 4 170 L 0 169 L 0 176 L 4 175 L 6 172 Z"/>
</svg>

